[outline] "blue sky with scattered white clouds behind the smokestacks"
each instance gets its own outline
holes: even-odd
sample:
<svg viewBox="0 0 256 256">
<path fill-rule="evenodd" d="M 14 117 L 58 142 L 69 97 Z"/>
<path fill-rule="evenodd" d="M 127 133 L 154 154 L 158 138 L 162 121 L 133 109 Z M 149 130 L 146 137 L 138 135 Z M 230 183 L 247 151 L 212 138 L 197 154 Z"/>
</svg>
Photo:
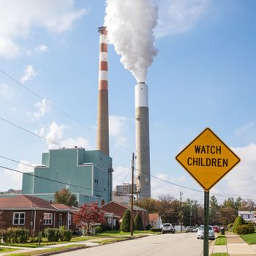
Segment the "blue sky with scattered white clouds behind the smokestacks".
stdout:
<svg viewBox="0 0 256 256">
<path fill-rule="evenodd" d="M 203 189 L 175 157 L 210 127 L 241 158 L 210 195 L 219 203 L 256 201 L 256 2 L 154 4 L 157 54 L 146 76 L 151 196 L 203 200 Z M 0 191 L 21 189 L 21 175 L 6 167 L 31 171 L 28 165 L 39 165 L 49 148 L 96 149 L 97 29 L 105 8 L 103 0 L 0 1 Z M 145 17 L 142 11 L 142 32 Z M 135 151 L 137 81 L 120 59 L 109 45 L 113 188 L 131 181 Z"/>
</svg>

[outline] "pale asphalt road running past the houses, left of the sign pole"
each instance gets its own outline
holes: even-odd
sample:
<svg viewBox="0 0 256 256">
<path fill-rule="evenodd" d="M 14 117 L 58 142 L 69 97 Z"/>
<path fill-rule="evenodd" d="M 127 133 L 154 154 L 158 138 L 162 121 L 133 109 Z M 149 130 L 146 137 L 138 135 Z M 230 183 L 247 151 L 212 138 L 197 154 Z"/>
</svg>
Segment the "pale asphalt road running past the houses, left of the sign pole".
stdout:
<svg viewBox="0 0 256 256">
<path fill-rule="evenodd" d="M 199 256 L 203 254 L 203 240 L 197 240 L 196 233 L 176 233 L 148 236 L 114 244 L 106 244 L 59 255 L 91 256 Z"/>
</svg>

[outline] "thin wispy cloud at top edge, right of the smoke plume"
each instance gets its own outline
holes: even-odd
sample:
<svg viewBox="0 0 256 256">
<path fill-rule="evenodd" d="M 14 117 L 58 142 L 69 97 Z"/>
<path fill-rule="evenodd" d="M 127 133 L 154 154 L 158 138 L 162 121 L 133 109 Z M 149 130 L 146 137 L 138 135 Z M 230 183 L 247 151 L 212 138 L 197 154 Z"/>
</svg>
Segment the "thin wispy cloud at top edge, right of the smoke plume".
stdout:
<svg viewBox="0 0 256 256">
<path fill-rule="evenodd" d="M 189 29 L 205 15 L 211 0 L 159 0 L 159 20 L 156 37 L 179 34 Z"/>
</svg>

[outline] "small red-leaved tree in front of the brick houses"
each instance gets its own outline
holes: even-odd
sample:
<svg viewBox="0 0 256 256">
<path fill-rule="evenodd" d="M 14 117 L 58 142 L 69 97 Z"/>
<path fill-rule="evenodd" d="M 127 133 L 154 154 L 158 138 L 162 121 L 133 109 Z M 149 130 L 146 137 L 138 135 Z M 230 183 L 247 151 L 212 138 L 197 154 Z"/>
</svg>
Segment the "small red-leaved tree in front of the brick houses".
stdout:
<svg viewBox="0 0 256 256">
<path fill-rule="evenodd" d="M 74 214 L 74 222 L 85 228 L 86 235 L 89 236 L 91 228 L 96 223 L 103 224 L 105 222 L 104 214 L 100 211 L 97 202 L 85 203 L 80 207 L 79 211 Z"/>
</svg>

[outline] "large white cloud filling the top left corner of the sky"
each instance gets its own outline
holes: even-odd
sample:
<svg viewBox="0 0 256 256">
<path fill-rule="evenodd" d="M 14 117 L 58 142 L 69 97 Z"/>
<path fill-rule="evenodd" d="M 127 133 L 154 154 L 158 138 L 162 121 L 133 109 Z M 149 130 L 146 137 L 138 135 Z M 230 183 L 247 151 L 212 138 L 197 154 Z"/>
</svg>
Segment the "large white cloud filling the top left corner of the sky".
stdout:
<svg viewBox="0 0 256 256">
<path fill-rule="evenodd" d="M 18 56 L 18 39 L 26 39 L 35 26 L 55 33 L 71 29 L 87 13 L 75 10 L 74 4 L 73 0 L 1 0 L 0 56 Z"/>
</svg>

